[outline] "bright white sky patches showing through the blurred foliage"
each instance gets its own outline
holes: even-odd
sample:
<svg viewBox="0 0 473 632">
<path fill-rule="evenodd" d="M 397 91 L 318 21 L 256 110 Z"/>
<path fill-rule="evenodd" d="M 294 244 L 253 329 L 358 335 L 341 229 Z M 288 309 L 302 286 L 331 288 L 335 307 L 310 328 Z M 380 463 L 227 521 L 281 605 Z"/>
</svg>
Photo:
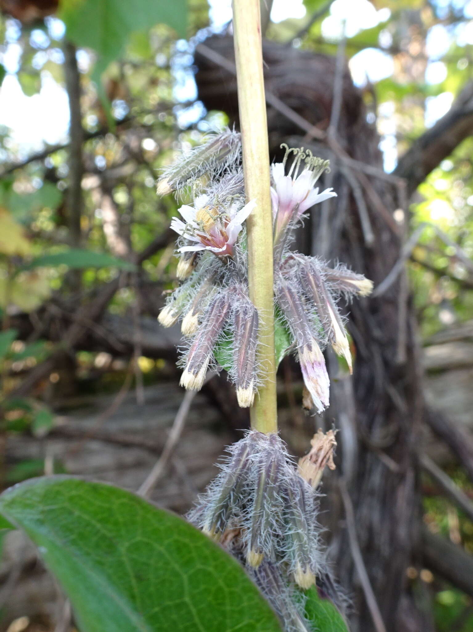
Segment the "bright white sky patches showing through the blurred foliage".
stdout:
<svg viewBox="0 0 473 632">
<path fill-rule="evenodd" d="M 447 0 L 438 0 L 438 6 L 443 6 Z M 209 0 L 210 19 L 214 30 L 218 31 L 231 19 L 231 0 Z M 280 22 L 288 18 L 303 18 L 306 9 L 302 0 L 274 0 L 271 20 Z M 473 0 L 465 8 L 465 16 L 473 18 Z M 330 40 L 337 40 L 345 31 L 351 37 L 365 28 L 382 24 L 390 17 L 389 9 L 383 8 L 377 11 L 368 0 L 335 0 L 330 7 L 330 12 L 322 21 L 322 34 Z M 47 18 L 49 35 L 55 39 L 61 39 L 64 35 L 64 25 L 57 18 Z M 0 61 L 7 70 L 0 88 L 0 124 L 11 128 L 11 149 L 17 149 L 20 154 L 28 155 L 30 152 L 40 150 L 44 143 L 60 143 L 67 138 L 67 126 L 69 122 L 69 109 L 67 95 L 60 85 L 45 70 L 41 72 L 41 89 L 38 94 L 27 97 L 23 94 L 20 83 L 16 78 L 21 56 L 21 46 L 18 44 L 20 31 L 15 20 L 8 20 L 6 30 L 7 46 L 0 54 Z M 426 82 L 440 83 L 445 78 L 447 68 L 441 56 L 447 52 L 455 36 L 459 44 L 473 44 L 473 20 L 467 23 L 461 30 L 452 33 L 447 28 L 438 25 L 429 32 L 427 50 L 429 63 L 426 70 Z M 382 32 L 380 42 L 388 47 L 390 45 L 389 34 Z M 46 52 L 49 46 L 49 38 L 42 30 L 33 30 L 32 43 L 37 48 L 37 54 L 33 63 L 41 68 L 47 61 L 48 55 L 53 61 L 61 63 L 61 49 L 52 49 Z M 181 40 L 180 44 L 187 49 L 187 42 Z M 85 51 L 79 51 L 79 67 L 86 66 L 88 56 Z M 387 52 L 382 49 L 365 49 L 351 58 L 349 64 L 354 83 L 360 87 L 367 80 L 375 83 L 393 72 L 393 62 Z M 175 97 L 184 102 L 196 95 L 196 86 L 191 71 L 177 70 Z M 430 97 L 426 104 L 426 125 L 431 126 L 443 116 L 452 103 L 452 94 L 444 92 L 438 97 Z M 388 107 L 385 108 L 388 115 Z M 201 114 L 202 105 L 197 103 L 192 109 L 182 111 L 180 123 L 189 125 Z M 386 116 L 385 116 L 386 118 Z M 382 149 L 385 153 L 385 168 L 391 171 L 395 166 L 395 129 L 387 129 L 382 139 Z M 1 158 L 1 157 L 0 157 Z"/>
</svg>

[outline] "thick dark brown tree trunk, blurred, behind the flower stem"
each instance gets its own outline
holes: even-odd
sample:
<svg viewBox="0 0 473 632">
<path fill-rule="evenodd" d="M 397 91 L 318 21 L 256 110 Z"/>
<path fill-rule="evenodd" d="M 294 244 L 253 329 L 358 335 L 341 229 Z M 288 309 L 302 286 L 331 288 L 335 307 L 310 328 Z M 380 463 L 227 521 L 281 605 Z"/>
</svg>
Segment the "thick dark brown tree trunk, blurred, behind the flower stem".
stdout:
<svg viewBox="0 0 473 632">
<path fill-rule="evenodd" d="M 196 80 L 199 98 L 207 109 L 223 109 L 236 120 L 236 80 L 231 63 L 225 64 L 219 57 L 233 61 L 231 51 L 230 38 L 213 38 L 203 48 L 197 47 Z M 402 214 L 394 212 L 402 207 L 407 218 L 407 209 L 401 181 L 383 176 L 380 139 L 374 124 L 367 122 L 361 93 L 353 86 L 344 62 L 337 70 L 336 60 L 325 55 L 266 42 L 264 58 L 271 103 L 271 158 L 287 142 L 332 161 L 332 171 L 321 186 L 333 186 L 338 197 L 313 209 L 301 241 L 313 255 L 350 265 L 376 287 L 400 255 L 404 227 L 394 219 L 401 216 L 402 220 Z M 341 102 L 333 111 L 337 92 Z M 333 124 L 336 119 L 334 130 L 330 120 Z M 307 132 L 311 126 L 317 126 L 312 138 L 304 137 L 301 128 Z M 354 168 L 346 155 L 362 162 L 363 171 Z M 338 363 L 327 358 L 333 404 L 324 417 L 325 425 L 334 423 L 340 430 L 338 475 L 343 475 L 349 489 L 356 536 L 385 627 L 389 632 L 424 632 L 430 627 L 428 617 L 414 604 L 406 574 L 407 567 L 415 565 L 412 557 L 420 537 L 414 453 L 423 411 L 416 324 L 406 273 L 383 295 L 355 300 L 350 312 L 347 326 L 355 348 L 354 375 L 339 375 Z M 330 505 L 325 508 L 329 509 L 334 569 L 353 599 L 351 629 L 374 630 L 351 554 L 336 477 L 325 483 L 324 492 Z"/>
</svg>

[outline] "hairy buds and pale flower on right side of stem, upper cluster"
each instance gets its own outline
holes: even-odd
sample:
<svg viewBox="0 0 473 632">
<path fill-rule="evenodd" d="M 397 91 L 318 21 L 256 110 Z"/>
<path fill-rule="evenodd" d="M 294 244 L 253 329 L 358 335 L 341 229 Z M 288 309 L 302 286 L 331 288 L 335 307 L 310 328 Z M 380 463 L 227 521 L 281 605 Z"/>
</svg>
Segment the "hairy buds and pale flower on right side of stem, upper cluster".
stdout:
<svg viewBox="0 0 473 632">
<path fill-rule="evenodd" d="M 301 365 L 305 386 L 317 412 L 329 405 L 330 380 L 322 353 L 330 344 L 352 372 L 344 322 L 337 308 L 341 295 L 370 294 L 373 284 L 346 267 L 330 268 L 316 257 L 291 252 L 291 233 L 304 212 L 336 196 L 332 189 L 314 188 L 329 161 L 310 150 L 289 149 L 283 162 L 272 165 L 271 199 L 274 218 L 274 295 L 283 324 L 288 327 Z M 288 167 L 289 156 L 294 154 Z M 286 174 L 286 169 L 288 173 Z"/>
</svg>

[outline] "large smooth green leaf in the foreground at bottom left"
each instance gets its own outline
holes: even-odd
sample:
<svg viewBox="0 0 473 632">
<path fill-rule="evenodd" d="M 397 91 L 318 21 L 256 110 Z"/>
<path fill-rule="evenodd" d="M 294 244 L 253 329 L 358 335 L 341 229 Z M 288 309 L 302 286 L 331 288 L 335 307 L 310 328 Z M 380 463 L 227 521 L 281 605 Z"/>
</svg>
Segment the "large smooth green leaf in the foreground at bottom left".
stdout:
<svg viewBox="0 0 473 632">
<path fill-rule="evenodd" d="M 130 492 L 37 478 L 4 492 L 0 513 L 38 545 L 82 632 L 281 632 L 235 559 Z"/>
</svg>

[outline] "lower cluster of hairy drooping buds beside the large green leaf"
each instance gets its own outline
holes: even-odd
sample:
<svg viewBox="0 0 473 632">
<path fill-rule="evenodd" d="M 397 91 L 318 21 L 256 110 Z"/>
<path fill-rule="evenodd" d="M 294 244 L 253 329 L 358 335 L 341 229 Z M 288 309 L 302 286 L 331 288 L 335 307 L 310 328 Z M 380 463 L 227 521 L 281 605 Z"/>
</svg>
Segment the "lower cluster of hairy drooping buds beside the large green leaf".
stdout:
<svg viewBox="0 0 473 632">
<path fill-rule="evenodd" d="M 288 631 L 310 629 L 298 589 L 330 576 L 316 489 L 335 445 L 332 431 L 319 432 L 297 470 L 277 435 L 247 432 L 187 516 L 246 566 Z"/>
</svg>

